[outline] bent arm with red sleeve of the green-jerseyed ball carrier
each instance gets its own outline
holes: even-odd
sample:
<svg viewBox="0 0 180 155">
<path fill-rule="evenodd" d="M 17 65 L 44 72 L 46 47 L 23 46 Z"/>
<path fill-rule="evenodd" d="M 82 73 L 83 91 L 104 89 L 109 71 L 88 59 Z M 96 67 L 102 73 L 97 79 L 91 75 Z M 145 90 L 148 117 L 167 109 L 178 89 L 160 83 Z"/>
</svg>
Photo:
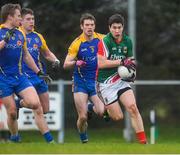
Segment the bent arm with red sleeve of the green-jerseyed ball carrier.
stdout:
<svg viewBox="0 0 180 155">
<path fill-rule="evenodd" d="M 113 68 L 121 65 L 121 60 L 108 60 L 105 50 L 102 41 L 100 41 L 98 44 L 98 68 Z"/>
</svg>

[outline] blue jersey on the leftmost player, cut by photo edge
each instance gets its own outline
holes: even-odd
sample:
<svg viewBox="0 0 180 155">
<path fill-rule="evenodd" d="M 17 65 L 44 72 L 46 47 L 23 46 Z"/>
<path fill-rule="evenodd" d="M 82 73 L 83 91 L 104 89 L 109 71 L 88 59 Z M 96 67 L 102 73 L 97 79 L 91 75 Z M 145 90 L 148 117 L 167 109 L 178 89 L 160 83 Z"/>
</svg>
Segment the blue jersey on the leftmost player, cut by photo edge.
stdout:
<svg viewBox="0 0 180 155">
<path fill-rule="evenodd" d="M 0 25 L 0 41 L 7 31 L 9 31 L 8 28 Z M 0 50 L 0 75 L 22 74 L 23 46 L 26 46 L 25 36 L 22 31 L 15 29 L 14 35 Z"/>
</svg>

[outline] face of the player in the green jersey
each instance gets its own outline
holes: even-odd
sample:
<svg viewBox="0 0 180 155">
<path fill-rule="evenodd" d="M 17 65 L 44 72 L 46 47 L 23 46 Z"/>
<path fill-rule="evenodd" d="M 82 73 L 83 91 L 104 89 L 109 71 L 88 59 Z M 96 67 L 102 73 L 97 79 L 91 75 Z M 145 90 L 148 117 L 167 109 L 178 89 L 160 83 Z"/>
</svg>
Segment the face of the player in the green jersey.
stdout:
<svg viewBox="0 0 180 155">
<path fill-rule="evenodd" d="M 123 29 L 124 27 L 121 23 L 113 23 L 109 27 L 109 30 L 115 39 L 120 39 L 122 37 Z"/>
</svg>

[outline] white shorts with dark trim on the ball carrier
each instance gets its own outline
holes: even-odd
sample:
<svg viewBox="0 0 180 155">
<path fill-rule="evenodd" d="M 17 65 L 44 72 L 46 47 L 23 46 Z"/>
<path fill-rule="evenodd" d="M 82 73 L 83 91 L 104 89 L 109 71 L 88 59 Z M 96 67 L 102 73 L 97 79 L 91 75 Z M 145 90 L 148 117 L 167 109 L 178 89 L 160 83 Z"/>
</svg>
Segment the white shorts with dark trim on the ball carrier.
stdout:
<svg viewBox="0 0 180 155">
<path fill-rule="evenodd" d="M 115 83 L 98 83 L 98 95 L 105 105 L 116 102 L 119 96 L 131 89 L 128 82 L 117 80 Z"/>
</svg>

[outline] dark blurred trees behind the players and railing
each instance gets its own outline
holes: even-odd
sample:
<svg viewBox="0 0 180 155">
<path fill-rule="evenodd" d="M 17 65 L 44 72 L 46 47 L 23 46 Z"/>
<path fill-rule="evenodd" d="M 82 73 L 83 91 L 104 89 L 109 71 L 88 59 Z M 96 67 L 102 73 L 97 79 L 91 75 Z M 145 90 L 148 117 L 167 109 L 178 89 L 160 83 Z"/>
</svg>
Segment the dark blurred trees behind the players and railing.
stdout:
<svg viewBox="0 0 180 155">
<path fill-rule="evenodd" d="M 82 13 L 92 13 L 97 20 L 96 31 L 106 34 L 107 21 L 114 13 L 121 13 L 126 19 L 128 34 L 128 0 L 1 0 L 5 3 L 20 3 L 22 7 L 34 10 L 36 30 L 47 41 L 51 51 L 62 65 L 71 42 L 81 33 L 79 18 Z M 179 80 L 180 78 L 180 1 L 179 0 L 137 0 L 136 1 L 136 59 L 137 80 Z M 71 80 L 72 71 L 53 72 L 47 63 L 47 70 L 54 80 Z M 50 86 L 50 90 L 54 88 Z M 158 126 L 178 128 L 180 118 L 179 85 L 137 85 L 138 107 L 149 130 L 149 112 L 156 111 Z M 65 86 L 65 128 L 76 128 L 76 111 L 71 86 Z M 123 128 L 124 122 L 93 117 L 90 128 L 106 126 Z"/>
</svg>

